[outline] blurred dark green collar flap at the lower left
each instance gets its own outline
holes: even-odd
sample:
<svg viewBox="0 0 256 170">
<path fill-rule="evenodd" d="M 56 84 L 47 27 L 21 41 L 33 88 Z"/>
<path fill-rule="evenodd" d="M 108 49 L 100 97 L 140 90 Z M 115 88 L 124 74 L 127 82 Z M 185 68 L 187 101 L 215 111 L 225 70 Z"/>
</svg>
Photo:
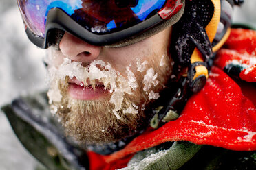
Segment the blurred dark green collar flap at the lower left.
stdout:
<svg viewBox="0 0 256 170">
<path fill-rule="evenodd" d="M 21 97 L 1 109 L 19 141 L 42 164 L 36 170 L 83 169 L 88 165 L 86 151 L 67 141 L 50 113 L 46 93 Z"/>
</svg>

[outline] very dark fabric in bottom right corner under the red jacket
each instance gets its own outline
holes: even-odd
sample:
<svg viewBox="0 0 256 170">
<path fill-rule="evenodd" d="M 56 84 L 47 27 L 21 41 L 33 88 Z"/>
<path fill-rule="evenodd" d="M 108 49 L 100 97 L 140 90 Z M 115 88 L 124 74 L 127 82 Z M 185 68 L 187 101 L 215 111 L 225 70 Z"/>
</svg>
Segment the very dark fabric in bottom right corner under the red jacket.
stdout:
<svg viewBox="0 0 256 170">
<path fill-rule="evenodd" d="M 255 170 L 256 151 L 231 151 L 204 145 L 191 160 L 179 170 Z"/>
</svg>

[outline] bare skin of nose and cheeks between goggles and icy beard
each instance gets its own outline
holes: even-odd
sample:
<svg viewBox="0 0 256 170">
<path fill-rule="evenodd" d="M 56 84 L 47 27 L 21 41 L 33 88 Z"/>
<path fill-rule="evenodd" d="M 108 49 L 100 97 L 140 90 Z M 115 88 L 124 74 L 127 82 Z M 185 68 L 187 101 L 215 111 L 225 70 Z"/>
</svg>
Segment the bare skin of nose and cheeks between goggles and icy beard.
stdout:
<svg viewBox="0 0 256 170">
<path fill-rule="evenodd" d="M 89 45 L 66 32 L 59 45 L 60 51 L 54 51 L 54 55 L 58 57 L 54 59 L 53 64 L 58 66 L 63 62 L 63 58 L 85 64 L 93 60 L 103 60 L 109 62 L 120 73 L 124 73 L 125 66 L 129 64 L 132 65 L 132 71 L 136 71 L 135 56 L 143 61 L 149 60 L 147 56 L 151 56 L 151 53 L 156 53 L 159 56 L 155 59 L 160 61 L 162 54 L 167 53 L 170 36 L 171 27 L 134 45 L 107 48 Z"/>
</svg>

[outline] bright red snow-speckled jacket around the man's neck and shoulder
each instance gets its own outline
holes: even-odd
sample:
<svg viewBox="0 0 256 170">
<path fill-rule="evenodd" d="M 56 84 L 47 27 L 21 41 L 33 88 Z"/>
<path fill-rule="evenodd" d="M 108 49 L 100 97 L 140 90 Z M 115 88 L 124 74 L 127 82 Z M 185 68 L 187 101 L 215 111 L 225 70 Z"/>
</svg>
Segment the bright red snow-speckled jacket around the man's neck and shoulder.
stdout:
<svg viewBox="0 0 256 170">
<path fill-rule="evenodd" d="M 168 141 L 256 150 L 256 86 L 248 83 L 256 82 L 256 32 L 232 29 L 214 65 L 204 88 L 189 99 L 178 119 L 141 134 L 109 156 L 89 151 L 91 169 L 125 167 L 136 152 Z M 223 71 L 235 66 L 239 85 Z"/>
</svg>

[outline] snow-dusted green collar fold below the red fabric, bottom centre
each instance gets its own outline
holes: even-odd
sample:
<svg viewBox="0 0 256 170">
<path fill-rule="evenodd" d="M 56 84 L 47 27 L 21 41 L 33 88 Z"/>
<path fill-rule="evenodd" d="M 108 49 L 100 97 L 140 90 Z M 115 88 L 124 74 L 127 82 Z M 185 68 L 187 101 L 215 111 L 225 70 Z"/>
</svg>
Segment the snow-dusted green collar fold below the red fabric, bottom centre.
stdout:
<svg viewBox="0 0 256 170">
<path fill-rule="evenodd" d="M 171 145 L 171 147 L 170 147 Z M 190 160 L 202 147 L 187 141 L 164 143 L 138 152 L 123 170 L 175 170 Z"/>
</svg>

